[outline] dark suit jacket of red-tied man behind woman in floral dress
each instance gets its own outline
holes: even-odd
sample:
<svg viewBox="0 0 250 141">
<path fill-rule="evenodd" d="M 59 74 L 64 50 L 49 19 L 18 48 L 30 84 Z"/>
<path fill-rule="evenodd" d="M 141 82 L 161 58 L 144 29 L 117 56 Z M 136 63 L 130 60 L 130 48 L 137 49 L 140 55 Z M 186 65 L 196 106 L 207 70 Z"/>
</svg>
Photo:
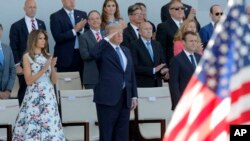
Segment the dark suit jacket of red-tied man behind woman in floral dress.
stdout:
<svg viewBox="0 0 250 141">
<path fill-rule="evenodd" d="M 45 24 L 43 21 L 36 19 L 38 29 L 46 30 Z M 23 54 L 27 49 L 27 40 L 28 40 L 29 31 L 25 23 L 25 18 L 13 23 L 10 27 L 10 47 L 14 54 L 15 63 L 19 63 L 22 60 Z"/>
</svg>

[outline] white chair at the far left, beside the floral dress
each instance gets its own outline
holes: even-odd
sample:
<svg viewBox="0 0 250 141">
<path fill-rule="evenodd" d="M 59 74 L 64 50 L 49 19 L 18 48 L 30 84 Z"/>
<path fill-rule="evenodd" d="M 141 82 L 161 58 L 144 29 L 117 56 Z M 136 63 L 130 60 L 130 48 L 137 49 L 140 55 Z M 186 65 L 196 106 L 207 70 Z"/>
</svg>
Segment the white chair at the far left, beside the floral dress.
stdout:
<svg viewBox="0 0 250 141">
<path fill-rule="evenodd" d="M 12 140 L 12 126 L 15 124 L 19 104 L 17 99 L 0 100 L 0 140 Z"/>
</svg>

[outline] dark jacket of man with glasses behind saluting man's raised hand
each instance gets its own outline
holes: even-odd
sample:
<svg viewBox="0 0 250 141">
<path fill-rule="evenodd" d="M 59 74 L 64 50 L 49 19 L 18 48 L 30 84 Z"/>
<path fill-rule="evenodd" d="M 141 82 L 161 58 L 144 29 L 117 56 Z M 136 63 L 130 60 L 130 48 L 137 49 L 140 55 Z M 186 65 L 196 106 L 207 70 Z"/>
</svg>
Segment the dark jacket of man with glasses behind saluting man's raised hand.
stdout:
<svg viewBox="0 0 250 141">
<path fill-rule="evenodd" d="M 138 37 L 133 27 L 130 23 L 128 23 L 128 26 L 123 30 L 123 42 L 121 43 L 121 45 L 130 48 L 131 42 L 137 39 Z"/>
</svg>

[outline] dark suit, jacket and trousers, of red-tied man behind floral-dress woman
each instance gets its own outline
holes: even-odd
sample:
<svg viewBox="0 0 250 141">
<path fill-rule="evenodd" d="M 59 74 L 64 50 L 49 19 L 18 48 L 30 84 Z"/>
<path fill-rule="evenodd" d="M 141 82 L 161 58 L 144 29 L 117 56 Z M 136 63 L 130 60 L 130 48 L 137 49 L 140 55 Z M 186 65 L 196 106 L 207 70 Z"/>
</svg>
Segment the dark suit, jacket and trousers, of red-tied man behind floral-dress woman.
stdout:
<svg viewBox="0 0 250 141">
<path fill-rule="evenodd" d="M 38 29 L 46 30 L 45 24 L 43 21 L 36 19 Z M 25 23 L 25 18 L 13 23 L 10 27 L 10 47 L 12 49 L 15 63 L 21 63 L 24 52 L 27 49 L 27 40 L 28 40 L 28 27 Z M 22 66 L 22 65 L 21 65 Z M 26 82 L 24 80 L 24 75 L 17 75 L 19 80 L 19 90 L 18 90 L 18 101 L 21 105 L 24 94 L 26 91 Z"/>
</svg>

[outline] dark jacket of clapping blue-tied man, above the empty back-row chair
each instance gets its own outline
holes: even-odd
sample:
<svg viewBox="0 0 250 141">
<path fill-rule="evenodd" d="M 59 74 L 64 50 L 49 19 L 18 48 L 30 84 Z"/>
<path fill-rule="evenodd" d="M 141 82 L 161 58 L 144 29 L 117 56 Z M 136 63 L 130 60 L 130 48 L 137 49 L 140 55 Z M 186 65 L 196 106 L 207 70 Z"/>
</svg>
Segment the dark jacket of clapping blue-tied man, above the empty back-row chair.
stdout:
<svg viewBox="0 0 250 141">
<path fill-rule="evenodd" d="M 87 19 L 84 11 L 74 10 L 75 23 L 82 18 Z M 54 56 L 58 57 L 57 66 L 69 67 L 74 57 L 74 46 L 76 36 L 72 32 L 73 25 L 67 12 L 62 8 L 50 16 L 50 29 L 56 42 Z M 80 32 L 77 33 L 77 36 Z"/>
</svg>

